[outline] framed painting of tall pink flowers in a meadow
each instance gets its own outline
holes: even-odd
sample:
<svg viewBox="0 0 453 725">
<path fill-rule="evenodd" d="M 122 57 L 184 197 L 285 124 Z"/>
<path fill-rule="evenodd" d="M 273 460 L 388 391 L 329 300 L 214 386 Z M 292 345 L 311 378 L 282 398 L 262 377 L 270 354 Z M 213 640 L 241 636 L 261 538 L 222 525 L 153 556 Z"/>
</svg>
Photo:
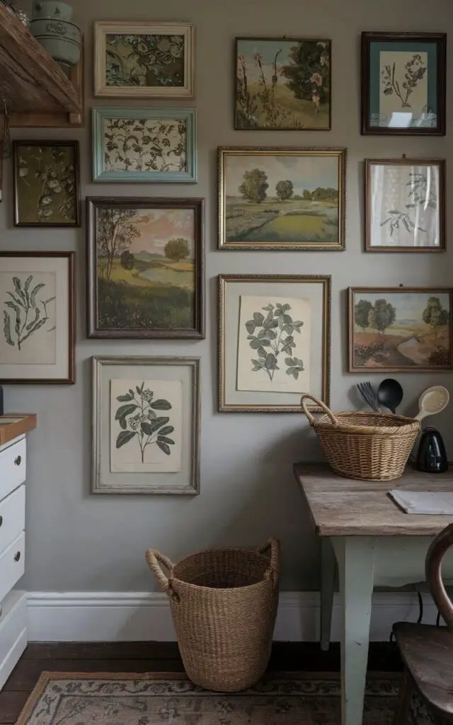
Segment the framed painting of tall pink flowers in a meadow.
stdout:
<svg viewBox="0 0 453 725">
<path fill-rule="evenodd" d="M 236 38 L 235 128 L 330 130 L 331 85 L 331 41 Z"/>
</svg>

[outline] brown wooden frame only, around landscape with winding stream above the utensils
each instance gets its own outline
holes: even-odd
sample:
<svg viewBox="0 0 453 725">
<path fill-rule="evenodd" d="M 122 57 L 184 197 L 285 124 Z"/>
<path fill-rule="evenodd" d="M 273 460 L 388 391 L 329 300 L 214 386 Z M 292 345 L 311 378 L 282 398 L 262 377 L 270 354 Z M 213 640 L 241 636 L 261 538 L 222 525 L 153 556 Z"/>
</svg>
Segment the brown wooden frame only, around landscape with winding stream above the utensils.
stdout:
<svg viewBox="0 0 453 725">
<path fill-rule="evenodd" d="M 414 294 L 423 294 L 427 292 L 447 293 L 449 294 L 449 333 L 450 333 L 450 363 L 449 365 L 417 365 L 414 367 L 404 367 L 402 365 L 395 365 L 388 368 L 366 368 L 364 365 L 354 365 L 354 295 L 360 292 L 371 293 L 371 294 L 396 294 L 400 292 L 407 294 L 413 292 Z M 348 288 L 348 363 L 349 373 L 426 373 L 436 370 L 442 372 L 443 370 L 453 370 L 453 287 L 349 287 Z"/>
</svg>

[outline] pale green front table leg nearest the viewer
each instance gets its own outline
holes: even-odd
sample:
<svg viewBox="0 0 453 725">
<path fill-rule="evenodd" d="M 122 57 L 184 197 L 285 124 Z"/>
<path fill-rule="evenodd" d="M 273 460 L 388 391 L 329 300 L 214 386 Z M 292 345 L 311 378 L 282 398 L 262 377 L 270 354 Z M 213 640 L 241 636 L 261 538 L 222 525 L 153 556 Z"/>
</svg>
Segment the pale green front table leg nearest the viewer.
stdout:
<svg viewBox="0 0 453 725">
<path fill-rule="evenodd" d="M 373 546 L 373 537 L 333 539 L 338 562 L 342 618 L 342 725 L 362 725 L 373 596 Z"/>
</svg>

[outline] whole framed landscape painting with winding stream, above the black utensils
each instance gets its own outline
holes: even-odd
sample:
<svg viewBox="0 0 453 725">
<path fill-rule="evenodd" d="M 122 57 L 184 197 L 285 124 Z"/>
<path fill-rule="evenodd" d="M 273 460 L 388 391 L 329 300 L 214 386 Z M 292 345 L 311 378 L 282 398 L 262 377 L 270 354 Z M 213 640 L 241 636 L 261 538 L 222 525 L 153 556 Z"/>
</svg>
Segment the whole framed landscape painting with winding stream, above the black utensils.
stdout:
<svg viewBox="0 0 453 725">
<path fill-rule="evenodd" d="M 350 287 L 349 371 L 451 370 L 453 289 Z"/>
</svg>

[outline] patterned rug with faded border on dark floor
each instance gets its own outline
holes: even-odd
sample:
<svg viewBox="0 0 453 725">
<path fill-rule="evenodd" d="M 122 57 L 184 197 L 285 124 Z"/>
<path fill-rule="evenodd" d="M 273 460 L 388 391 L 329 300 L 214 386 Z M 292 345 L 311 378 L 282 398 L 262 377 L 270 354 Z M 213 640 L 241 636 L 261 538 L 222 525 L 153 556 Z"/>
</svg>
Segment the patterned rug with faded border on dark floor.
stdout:
<svg viewBox="0 0 453 725">
<path fill-rule="evenodd" d="M 391 725 L 399 679 L 370 676 L 365 725 Z M 417 725 L 431 725 L 417 704 Z M 234 695 L 175 674 L 43 672 L 17 725 L 339 725 L 338 675 L 268 677 Z"/>
</svg>

